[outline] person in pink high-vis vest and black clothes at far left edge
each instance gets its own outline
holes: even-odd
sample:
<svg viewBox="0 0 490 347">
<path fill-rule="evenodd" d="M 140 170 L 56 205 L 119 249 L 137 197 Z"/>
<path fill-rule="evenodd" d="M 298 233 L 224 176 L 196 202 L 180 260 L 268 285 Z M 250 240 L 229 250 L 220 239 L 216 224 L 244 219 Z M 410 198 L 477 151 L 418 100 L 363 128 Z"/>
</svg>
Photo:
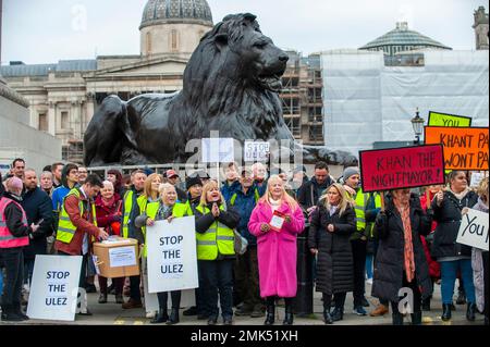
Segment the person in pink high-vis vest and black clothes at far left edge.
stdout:
<svg viewBox="0 0 490 347">
<path fill-rule="evenodd" d="M 35 224 L 28 226 L 24 220 L 25 212 L 20 205 L 22 188 L 22 179 L 11 177 L 7 182 L 7 191 L 0 197 L 0 261 L 5 267 L 2 321 L 28 320 L 21 311 L 23 246 L 28 244 L 28 236 L 39 226 Z"/>
</svg>

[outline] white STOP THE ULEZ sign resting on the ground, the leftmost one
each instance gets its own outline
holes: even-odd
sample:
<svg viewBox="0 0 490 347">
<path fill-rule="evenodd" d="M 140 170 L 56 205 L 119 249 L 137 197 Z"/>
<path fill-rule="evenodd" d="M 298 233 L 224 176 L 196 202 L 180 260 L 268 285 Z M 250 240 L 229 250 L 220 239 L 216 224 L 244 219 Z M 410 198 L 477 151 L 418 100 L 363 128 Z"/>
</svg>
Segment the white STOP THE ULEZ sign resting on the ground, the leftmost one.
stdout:
<svg viewBox="0 0 490 347">
<path fill-rule="evenodd" d="M 81 271 L 79 256 L 36 256 L 27 315 L 74 321 Z"/>
</svg>

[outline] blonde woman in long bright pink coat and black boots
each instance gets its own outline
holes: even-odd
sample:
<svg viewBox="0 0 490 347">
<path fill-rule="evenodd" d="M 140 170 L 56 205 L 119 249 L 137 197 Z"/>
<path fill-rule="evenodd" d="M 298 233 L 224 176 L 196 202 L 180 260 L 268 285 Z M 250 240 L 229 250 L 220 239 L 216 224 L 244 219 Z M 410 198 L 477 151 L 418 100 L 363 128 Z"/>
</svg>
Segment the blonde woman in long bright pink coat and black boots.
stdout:
<svg viewBox="0 0 490 347">
<path fill-rule="evenodd" d="M 284 220 L 281 227 L 271 225 L 274 212 Z M 277 225 L 275 223 L 272 223 Z M 284 325 L 293 324 L 293 299 L 296 296 L 296 236 L 305 226 L 297 202 L 284 190 L 284 183 L 273 175 L 267 191 L 252 212 L 248 230 L 257 237 L 260 296 L 267 300 L 266 325 L 274 323 L 275 299 L 284 298 Z"/>
</svg>

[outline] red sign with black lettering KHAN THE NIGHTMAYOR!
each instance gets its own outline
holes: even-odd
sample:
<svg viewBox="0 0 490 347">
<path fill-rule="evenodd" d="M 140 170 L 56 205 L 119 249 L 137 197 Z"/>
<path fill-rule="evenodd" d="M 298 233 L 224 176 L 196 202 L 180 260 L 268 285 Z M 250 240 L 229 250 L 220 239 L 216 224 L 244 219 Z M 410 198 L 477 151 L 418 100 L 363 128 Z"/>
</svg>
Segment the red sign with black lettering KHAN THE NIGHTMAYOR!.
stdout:
<svg viewBox="0 0 490 347">
<path fill-rule="evenodd" d="M 364 193 L 444 184 L 442 146 L 359 151 Z"/>
</svg>

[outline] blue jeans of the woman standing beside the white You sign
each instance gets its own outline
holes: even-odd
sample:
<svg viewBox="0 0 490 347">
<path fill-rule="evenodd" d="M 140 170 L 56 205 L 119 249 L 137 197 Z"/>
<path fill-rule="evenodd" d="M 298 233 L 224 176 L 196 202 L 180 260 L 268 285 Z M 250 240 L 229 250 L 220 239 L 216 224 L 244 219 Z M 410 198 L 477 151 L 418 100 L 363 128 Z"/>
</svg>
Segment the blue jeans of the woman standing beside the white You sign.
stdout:
<svg viewBox="0 0 490 347">
<path fill-rule="evenodd" d="M 452 303 L 454 294 L 454 284 L 456 282 L 457 270 L 461 271 L 461 277 L 465 286 L 466 298 L 469 303 L 475 303 L 475 285 L 473 283 L 471 260 L 441 261 L 441 293 L 442 303 Z"/>
</svg>

